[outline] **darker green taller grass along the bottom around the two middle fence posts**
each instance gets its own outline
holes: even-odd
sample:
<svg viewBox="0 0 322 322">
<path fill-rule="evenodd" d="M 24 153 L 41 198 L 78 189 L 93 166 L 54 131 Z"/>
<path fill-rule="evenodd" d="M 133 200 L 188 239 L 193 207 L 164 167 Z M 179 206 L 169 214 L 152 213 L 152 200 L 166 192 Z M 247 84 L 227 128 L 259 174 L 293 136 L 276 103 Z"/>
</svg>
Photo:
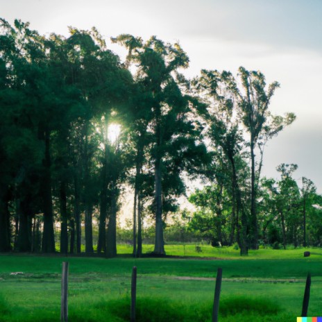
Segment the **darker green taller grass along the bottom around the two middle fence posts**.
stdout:
<svg viewBox="0 0 322 322">
<path fill-rule="evenodd" d="M 94 313 L 93 313 L 94 312 Z M 281 321 L 280 307 L 266 299 L 234 297 L 221 301 L 219 312 L 221 321 Z M 85 310 L 70 312 L 70 321 L 130 321 L 130 298 L 101 301 L 93 307 L 91 314 Z M 212 303 L 185 303 L 164 298 L 137 298 L 137 322 L 210 322 Z"/>
</svg>

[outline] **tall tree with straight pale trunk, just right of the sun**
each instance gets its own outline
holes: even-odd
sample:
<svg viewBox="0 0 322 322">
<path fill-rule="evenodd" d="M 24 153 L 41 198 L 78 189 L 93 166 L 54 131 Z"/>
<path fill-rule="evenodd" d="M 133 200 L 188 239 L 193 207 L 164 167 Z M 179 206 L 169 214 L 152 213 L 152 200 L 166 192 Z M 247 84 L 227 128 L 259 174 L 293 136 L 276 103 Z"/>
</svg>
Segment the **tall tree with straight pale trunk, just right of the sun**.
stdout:
<svg viewBox="0 0 322 322">
<path fill-rule="evenodd" d="M 129 35 L 120 35 L 116 41 L 127 46 L 128 59 L 137 64 L 135 81 L 140 84 L 146 96 L 147 105 L 144 106 L 144 110 L 149 110 L 149 113 L 147 112 L 149 119 L 146 118 L 144 131 L 153 135 L 153 146 L 149 154 L 153 159 L 155 177 L 154 253 L 164 255 L 162 229 L 164 165 L 167 161 L 179 160 L 173 157 L 173 153 L 181 151 L 185 154 L 189 140 L 196 146 L 195 139 L 192 139 L 194 122 L 187 117 L 191 111 L 189 99 L 180 91 L 176 77 L 179 68 L 188 66 L 189 59 L 179 44 L 165 44 L 155 36 L 144 43 L 139 38 Z M 177 169 L 180 172 L 180 166 Z"/>
</svg>

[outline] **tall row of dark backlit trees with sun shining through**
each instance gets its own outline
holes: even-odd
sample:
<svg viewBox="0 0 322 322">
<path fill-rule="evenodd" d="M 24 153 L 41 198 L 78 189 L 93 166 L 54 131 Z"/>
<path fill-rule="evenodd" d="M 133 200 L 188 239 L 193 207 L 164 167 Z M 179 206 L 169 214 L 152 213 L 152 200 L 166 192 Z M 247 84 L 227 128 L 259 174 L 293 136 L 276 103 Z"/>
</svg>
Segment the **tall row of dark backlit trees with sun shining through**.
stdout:
<svg viewBox="0 0 322 322">
<path fill-rule="evenodd" d="M 131 185 L 133 254 L 152 216 L 154 253 L 164 255 L 164 220 L 178 211 L 187 178 L 213 184 L 218 241 L 229 233 L 245 255 L 258 247 L 280 214 L 262 212 L 262 202 L 282 194 L 260 179 L 264 146 L 295 119 L 269 112 L 278 83 L 266 87 L 263 74 L 242 67 L 237 79 L 203 70 L 187 80 L 187 54 L 156 37 L 113 38 L 128 51 L 121 62 L 95 28 L 70 27 L 69 37 L 44 37 L 18 20 L 0 28 L 0 251 L 52 253 L 56 225 L 60 252 L 80 253 L 85 235 L 93 253 L 97 222 L 97 251 L 115 256 L 119 196 Z M 294 242 L 289 230 L 298 239 L 301 226 L 283 215 L 285 243 Z"/>
</svg>

